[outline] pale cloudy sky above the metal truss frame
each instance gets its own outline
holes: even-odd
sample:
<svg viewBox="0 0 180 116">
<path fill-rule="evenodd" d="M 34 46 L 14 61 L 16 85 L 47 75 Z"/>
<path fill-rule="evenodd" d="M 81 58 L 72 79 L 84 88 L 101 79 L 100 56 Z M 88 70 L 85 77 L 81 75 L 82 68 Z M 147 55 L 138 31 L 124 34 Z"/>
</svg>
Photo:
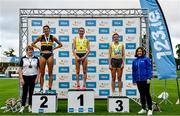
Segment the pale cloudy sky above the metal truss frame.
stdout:
<svg viewBox="0 0 180 116">
<path fill-rule="evenodd" d="M 174 56 L 180 44 L 180 0 L 158 0 L 169 27 Z M 19 9 L 21 8 L 140 8 L 139 0 L 0 0 L 0 57 L 9 48 L 19 55 Z"/>
</svg>

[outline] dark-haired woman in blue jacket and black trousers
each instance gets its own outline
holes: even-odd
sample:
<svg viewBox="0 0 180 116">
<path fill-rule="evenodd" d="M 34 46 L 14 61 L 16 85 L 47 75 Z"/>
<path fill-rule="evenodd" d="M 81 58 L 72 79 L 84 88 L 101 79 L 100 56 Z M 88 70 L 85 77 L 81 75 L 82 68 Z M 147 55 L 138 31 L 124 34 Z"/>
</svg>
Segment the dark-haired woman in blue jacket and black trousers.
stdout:
<svg viewBox="0 0 180 116">
<path fill-rule="evenodd" d="M 146 113 L 147 102 L 147 115 L 152 115 L 152 99 L 150 95 L 150 80 L 152 78 L 151 59 L 146 57 L 146 51 L 143 47 L 136 49 L 135 57 L 136 59 L 132 64 L 132 80 L 134 85 L 137 84 L 142 107 L 138 114 Z"/>
</svg>

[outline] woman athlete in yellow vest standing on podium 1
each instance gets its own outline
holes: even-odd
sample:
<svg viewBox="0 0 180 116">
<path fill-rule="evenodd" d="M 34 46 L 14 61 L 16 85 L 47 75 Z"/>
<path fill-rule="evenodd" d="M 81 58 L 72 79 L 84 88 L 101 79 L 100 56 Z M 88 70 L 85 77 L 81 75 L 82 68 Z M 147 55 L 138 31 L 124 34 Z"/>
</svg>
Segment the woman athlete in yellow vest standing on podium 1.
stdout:
<svg viewBox="0 0 180 116">
<path fill-rule="evenodd" d="M 87 38 L 84 37 L 85 29 L 80 27 L 78 30 L 79 37 L 75 37 L 73 40 L 72 52 L 75 57 L 76 65 L 76 81 L 77 89 L 80 89 L 79 74 L 80 74 L 80 63 L 82 62 L 83 68 L 83 87 L 86 89 L 86 79 L 87 79 L 87 57 L 90 52 L 90 43 Z"/>
</svg>

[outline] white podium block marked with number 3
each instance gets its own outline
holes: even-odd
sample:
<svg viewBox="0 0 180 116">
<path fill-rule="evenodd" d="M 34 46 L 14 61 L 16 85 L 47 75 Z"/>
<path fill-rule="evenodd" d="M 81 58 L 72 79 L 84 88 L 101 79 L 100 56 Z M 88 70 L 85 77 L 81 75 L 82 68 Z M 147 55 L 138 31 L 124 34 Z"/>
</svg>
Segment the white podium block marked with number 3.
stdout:
<svg viewBox="0 0 180 116">
<path fill-rule="evenodd" d="M 108 112 L 129 112 L 129 98 L 126 96 L 109 96 Z"/>
</svg>

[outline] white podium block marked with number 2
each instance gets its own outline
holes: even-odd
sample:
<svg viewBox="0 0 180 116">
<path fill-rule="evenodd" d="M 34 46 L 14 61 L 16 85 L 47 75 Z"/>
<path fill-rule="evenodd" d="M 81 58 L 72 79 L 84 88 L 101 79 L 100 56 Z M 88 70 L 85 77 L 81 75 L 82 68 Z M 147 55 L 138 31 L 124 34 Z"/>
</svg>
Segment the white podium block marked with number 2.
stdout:
<svg viewBox="0 0 180 116">
<path fill-rule="evenodd" d="M 32 113 L 55 113 L 57 108 L 57 94 L 34 94 L 32 96 Z"/>
</svg>

